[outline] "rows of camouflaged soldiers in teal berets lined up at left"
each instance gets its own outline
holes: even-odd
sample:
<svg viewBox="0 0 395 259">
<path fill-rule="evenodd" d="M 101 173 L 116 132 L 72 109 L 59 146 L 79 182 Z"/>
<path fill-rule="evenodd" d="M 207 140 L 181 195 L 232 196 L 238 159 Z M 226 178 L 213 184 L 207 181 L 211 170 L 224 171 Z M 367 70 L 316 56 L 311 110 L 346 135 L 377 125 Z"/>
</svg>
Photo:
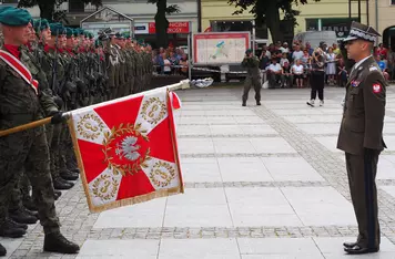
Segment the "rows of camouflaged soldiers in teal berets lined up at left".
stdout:
<svg viewBox="0 0 395 259">
<path fill-rule="evenodd" d="M 0 236 L 22 237 L 40 220 L 45 251 L 75 253 L 54 209 L 80 173 L 62 113 L 148 90 L 151 48 L 129 33 L 107 29 L 94 39 L 11 7 L 0 9 L 0 130 L 52 117 L 0 137 Z"/>
</svg>

